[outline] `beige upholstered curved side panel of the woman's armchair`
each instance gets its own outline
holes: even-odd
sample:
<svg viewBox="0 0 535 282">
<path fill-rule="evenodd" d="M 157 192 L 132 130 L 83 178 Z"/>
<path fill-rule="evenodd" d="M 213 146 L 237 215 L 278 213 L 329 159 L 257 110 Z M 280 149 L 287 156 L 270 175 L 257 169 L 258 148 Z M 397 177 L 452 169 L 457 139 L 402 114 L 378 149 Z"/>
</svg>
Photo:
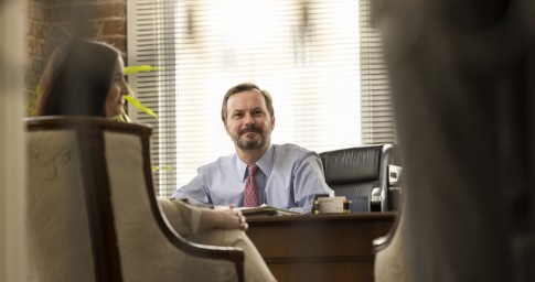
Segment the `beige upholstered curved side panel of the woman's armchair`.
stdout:
<svg viewBox="0 0 535 282">
<path fill-rule="evenodd" d="M 160 232 L 150 217 L 139 138 L 106 132 L 105 144 L 125 281 L 236 280 L 231 262 L 185 254 Z"/>
</svg>

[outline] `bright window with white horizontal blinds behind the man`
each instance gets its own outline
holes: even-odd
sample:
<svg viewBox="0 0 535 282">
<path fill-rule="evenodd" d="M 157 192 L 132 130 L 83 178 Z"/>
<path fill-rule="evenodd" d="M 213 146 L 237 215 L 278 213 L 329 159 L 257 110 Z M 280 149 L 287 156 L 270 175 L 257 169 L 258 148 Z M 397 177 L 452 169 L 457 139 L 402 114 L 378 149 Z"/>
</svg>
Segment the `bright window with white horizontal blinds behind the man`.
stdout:
<svg viewBox="0 0 535 282">
<path fill-rule="evenodd" d="M 128 1 L 128 64 L 162 68 L 129 77 L 159 115 L 129 109 L 153 127 L 153 163 L 171 167 L 154 172 L 158 194 L 234 152 L 220 112 L 225 91 L 242 82 L 271 94 L 272 143 L 322 152 L 392 142 L 378 36 L 368 26 L 363 33 L 368 10 L 347 0 Z"/>
</svg>

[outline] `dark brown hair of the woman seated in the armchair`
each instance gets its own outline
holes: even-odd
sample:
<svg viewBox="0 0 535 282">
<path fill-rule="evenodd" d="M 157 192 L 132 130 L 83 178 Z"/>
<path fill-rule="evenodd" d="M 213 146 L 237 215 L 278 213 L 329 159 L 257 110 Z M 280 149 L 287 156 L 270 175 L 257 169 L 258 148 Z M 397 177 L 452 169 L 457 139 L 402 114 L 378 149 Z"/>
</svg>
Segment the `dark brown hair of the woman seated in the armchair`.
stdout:
<svg viewBox="0 0 535 282">
<path fill-rule="evenodd" d="M 38 88 L 38 115 L 104 117 L 118 56 L 113 46 L 85 40 L 57 47 Z"/>
</svg>

